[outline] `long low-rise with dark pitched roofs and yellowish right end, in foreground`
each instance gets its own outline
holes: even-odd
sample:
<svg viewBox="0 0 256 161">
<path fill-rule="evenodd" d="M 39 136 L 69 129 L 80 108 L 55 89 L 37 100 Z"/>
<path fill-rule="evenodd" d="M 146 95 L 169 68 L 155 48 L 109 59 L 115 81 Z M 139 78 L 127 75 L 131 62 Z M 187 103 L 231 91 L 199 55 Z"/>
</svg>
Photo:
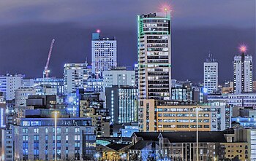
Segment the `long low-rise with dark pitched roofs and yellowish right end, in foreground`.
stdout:
<svg viewBox="0 0 256 161">
<path fill-rule="evenodd" d="M 132 135 L 129 160 L 250 160 L 250 130 L 138 132 Z M 198 146 L 198 152 L 197 152 Z"/>
</svg>

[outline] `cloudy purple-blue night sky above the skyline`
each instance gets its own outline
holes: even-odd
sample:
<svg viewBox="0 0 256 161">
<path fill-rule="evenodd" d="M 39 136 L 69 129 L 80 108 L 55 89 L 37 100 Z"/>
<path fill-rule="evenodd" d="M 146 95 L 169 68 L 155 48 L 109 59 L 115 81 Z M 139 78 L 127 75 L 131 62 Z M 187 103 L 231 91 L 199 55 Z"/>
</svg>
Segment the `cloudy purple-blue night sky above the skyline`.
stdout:
<svg viewBox="0 0 256 161">
<path fill-rule="evenodd" d="M 116 36 L 118 66 L 137 62 L 136 15 L 172 9 L 173 79 L 203 81 L 208 52 L 219 62 L 219 81 L 233 78 L 233 56 L 246 44 L 256 64 L 255 0 L 0 1 L 0 74 L 40 77 L 51 39 L 50 76 L 64 63 L 91 63 L 91 33 Z M 256 68 L 256 65 L 255 65 Z M 254 72 L 256 78 L 256 73 Z"/>
</svg>

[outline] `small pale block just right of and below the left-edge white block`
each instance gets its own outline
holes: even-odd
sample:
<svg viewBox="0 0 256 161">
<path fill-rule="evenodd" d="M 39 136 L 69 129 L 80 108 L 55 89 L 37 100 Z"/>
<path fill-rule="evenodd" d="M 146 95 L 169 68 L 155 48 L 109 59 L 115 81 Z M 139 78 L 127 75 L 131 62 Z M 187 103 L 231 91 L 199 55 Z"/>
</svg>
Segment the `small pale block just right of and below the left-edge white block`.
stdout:
<svg viewBox="0 0 256 161">
<path fill-rule="evenodd" d="M 36 95 L 33 87 L 21 87 L 15 90 L 15 107 L 26 106 L 26 99 L 29 95 Z"/>
</svg>

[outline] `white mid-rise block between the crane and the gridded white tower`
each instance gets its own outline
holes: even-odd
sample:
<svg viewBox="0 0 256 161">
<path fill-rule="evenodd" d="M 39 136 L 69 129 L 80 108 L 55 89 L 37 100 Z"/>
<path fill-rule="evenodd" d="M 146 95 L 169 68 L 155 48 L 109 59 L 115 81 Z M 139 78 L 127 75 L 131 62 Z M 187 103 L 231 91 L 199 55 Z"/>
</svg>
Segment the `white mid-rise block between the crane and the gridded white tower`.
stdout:
<svg viewBox="0 0 256 161">
<path fill-rule="evenodd" d="M 66 95 L 75 92 L 78 88 L 85 88 L 88 79 L 87 63 L 66 63 L 63 76 Z"/>
</svg>

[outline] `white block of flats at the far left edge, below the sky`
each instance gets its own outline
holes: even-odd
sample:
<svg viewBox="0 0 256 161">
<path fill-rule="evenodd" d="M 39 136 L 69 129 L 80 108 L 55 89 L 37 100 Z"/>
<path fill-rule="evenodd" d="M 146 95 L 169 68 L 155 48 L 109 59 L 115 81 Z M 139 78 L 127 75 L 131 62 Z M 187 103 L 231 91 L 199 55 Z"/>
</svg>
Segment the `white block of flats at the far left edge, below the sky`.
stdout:
<svg viewBox="0 0 256 161">
<path fill-rule="evenodd" d="M 0 76 L 0 92 L 5 93 L 7 101 L 15 98 L 15 90 L 19 87 L 21 87 L 20 75 Z"/>
</svg>

